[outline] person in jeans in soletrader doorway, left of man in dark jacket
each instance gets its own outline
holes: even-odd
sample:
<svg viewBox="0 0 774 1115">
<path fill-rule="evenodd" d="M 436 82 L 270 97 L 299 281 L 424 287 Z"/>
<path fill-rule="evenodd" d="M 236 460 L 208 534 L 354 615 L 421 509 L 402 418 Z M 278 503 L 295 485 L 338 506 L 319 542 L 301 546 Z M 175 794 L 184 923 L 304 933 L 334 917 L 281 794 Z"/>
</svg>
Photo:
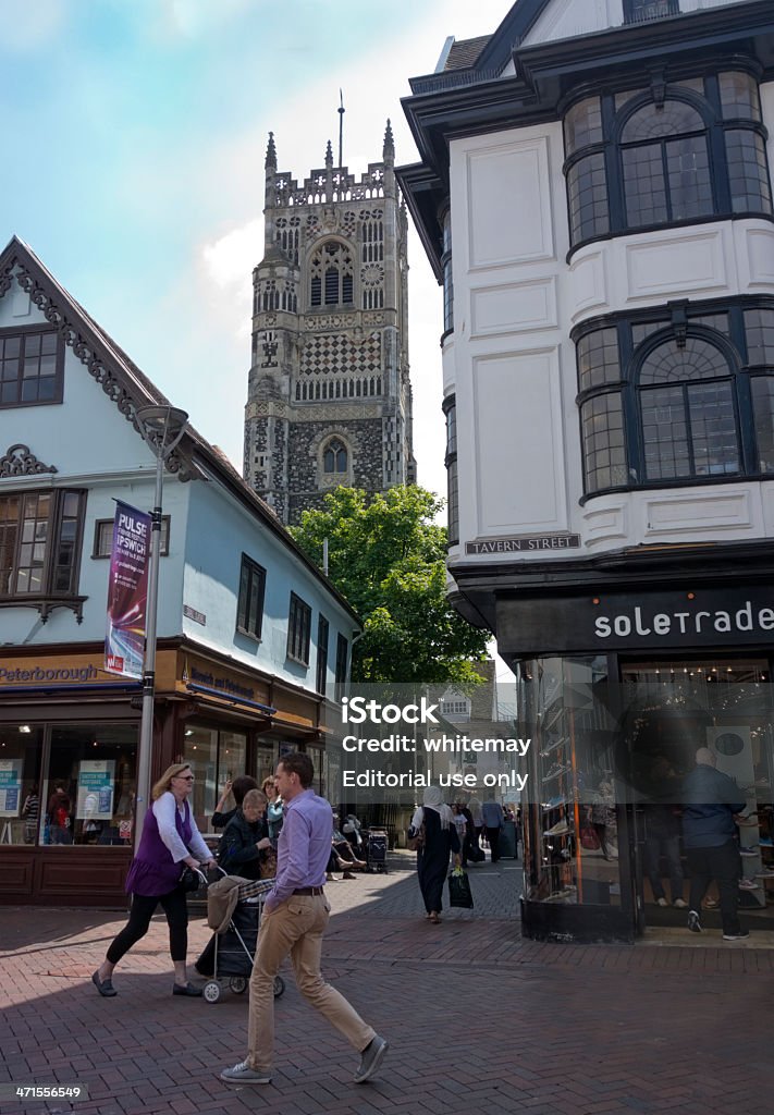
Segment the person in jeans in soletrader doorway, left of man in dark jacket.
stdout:
<svg viewBox="0 0 774 1115">
<path fill-rule="evenodd" d="M 680 862 L 680 809 L 675 804 L 678 778 L 669 759 L 657 756 L 650 772 L 650 799 L 642 805 L 645 818 L 645 873 L 656 905 L 669 905 L 661 879 L 661 856 L 669 875 L 671 904 L 685 910 Z"/>
</svg>

